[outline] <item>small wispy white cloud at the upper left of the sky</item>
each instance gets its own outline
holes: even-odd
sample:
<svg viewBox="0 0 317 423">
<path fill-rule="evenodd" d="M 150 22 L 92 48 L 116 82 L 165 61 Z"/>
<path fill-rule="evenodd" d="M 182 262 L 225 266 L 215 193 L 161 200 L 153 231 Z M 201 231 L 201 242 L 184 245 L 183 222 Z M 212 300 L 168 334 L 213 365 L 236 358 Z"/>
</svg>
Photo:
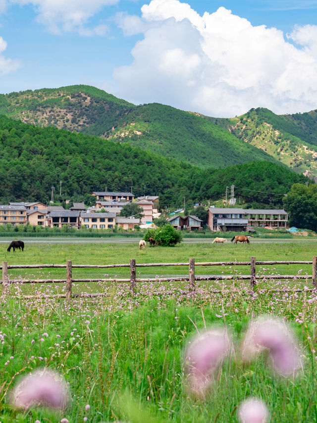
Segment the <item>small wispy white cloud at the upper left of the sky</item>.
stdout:
<svg viewBox="0 0 317 423">
<path fill-rule="evenodd" d="M 1 0 L 0 0 L 1 1 Z M 3 1 L 3 0 L 2 0 Z M 80 35 L 105 35 L 106 25 L 87 28 L 87 21 L 104 6 L 119 0 L 9 0 L 21 6 L 31 4 L 37 13 L 38 22 L 46 25 L 53 34 L 76 31 Z"/>
</svg>

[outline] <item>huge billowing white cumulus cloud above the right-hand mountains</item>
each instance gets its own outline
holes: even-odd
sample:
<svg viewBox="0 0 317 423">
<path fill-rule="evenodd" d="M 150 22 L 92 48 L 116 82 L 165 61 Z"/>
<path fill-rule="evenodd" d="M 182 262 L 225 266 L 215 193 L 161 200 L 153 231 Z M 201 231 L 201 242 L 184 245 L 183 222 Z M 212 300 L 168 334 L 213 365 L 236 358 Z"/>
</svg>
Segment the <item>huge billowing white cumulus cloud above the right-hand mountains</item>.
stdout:
<svg viewBox="0 0 317 423">
<path fill-rule="evenodd" d="M 152 0 L 141 11 L 141 18 L 120 21 L 125 34 L 144 37 L 132 63 L 114 70 L 118 95 L 218 117 L 252 107 L 317 108 L 317 26 L 297 26 L 284 37 L 224 7 L 200 16 L 179 0 Z"/>
</svg>

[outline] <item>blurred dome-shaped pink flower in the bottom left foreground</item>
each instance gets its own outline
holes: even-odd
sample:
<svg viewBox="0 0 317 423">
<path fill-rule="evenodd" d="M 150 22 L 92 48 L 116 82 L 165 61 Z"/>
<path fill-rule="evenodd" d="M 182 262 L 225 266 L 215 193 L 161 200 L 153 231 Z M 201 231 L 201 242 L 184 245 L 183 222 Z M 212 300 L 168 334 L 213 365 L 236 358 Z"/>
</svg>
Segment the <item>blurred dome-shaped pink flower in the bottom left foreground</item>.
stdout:
<svg viewBox="0 0 317 423">
<path fill-rule="evenodd" d="M 62 410 L 68 404 L 67 385 L 62 376 L 53 370 L 35 370 L 14 388 L 11 404 L 24 410 L 38 405 Z"/>
</svg>

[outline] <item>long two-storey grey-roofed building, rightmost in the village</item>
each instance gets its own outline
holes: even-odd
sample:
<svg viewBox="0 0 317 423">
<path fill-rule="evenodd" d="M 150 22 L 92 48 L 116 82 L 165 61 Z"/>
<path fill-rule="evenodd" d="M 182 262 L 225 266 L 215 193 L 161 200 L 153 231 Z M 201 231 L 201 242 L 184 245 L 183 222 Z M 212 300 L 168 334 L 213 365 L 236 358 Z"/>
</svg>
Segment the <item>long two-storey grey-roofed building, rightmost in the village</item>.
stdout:
<svg viewBox="0 0 317 423">
<path fill-rule="evenodd" d="M 249 227 L 286 228 L 285 210 L 210 207 L 208 226 L 211 231 L 245 231 Z"/>
</svg>

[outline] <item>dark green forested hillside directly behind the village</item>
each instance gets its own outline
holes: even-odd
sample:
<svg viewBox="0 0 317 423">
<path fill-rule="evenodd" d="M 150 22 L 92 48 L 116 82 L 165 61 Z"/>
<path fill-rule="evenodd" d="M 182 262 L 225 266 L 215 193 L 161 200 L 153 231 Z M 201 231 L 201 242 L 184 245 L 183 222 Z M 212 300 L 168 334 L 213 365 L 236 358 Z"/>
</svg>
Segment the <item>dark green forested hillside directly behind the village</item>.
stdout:
<svg viewBox="0 0 317 423">
<path fill-rule="evenodd" d="M 51 187 L 62 181 L 62 198 L 83 200 L 93 190 L 130 190 L 159 195 L 161 206 L 217 199 L 226 185 L 237 185 L 241 201 L 271 206 L 281 194 L 307 178 L 269 162 L 222 170 L 200 169 L 173 159 L 96 136 L 53 127 L 41 128 L 0 117 L 0 202 L 48 202 Z M 242 188 L 248 188 L 242 190 Z M 258 191 L 269 191 L 275 195 Z"/>
</svg>

